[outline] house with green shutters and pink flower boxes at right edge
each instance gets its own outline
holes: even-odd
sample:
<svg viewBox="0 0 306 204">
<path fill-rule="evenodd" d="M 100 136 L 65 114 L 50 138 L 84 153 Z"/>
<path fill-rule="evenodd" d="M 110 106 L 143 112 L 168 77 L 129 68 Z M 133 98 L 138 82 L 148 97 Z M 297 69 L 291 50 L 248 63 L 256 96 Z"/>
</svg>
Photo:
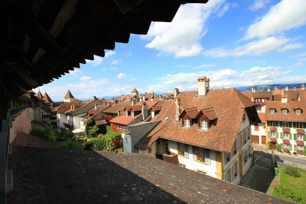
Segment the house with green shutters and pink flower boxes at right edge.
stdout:
<svg viewBox="0 0 306 204">
<path fill-rule="evenodd" d="M 266 105 L 266 142 L 275 141 L 282 149 L 302 150 L 306 137 L 306 93 L 299 90 L 300 100 L 288 100 L 283 94 L 281 101 L 268 101 Z M 297 142 L 300 141 L 300 142 Z M 274 146 L 275 148 L 275 146 Z"/>
</svg>

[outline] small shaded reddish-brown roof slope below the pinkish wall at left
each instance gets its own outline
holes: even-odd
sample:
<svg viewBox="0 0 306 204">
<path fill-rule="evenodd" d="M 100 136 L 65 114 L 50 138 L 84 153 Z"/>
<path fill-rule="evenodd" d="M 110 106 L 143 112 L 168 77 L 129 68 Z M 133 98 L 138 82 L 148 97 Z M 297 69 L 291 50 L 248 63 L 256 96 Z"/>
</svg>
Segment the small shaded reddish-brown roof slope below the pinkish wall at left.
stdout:
<svg viewBox="0 0 306 204">
<path fill-rule="evenodd" d="M 57 148 L 61 145 L 61 142 L 53 142 L 39 137 L 35 137 L 33 135 L 18 132 L 12 144 L 18 146 Z"/>
</svg>

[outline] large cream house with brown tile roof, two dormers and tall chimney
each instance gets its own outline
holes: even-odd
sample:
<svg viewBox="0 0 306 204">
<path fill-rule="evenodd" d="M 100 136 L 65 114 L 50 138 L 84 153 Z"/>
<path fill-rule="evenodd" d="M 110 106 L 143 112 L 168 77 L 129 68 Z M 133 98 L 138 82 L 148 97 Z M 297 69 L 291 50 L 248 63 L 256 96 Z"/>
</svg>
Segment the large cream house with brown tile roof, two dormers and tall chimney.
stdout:
<svg viewBox="0 0 306 204">
<path fill-rule="evenodd" d="M 123 151 L 133 152 L 126 143 L 143 135 L 131 143 L 139 154 L 238 184 L 250 167 L 250 125 L 260 122 L 255 105 L 234 88 L 209 90 L 206 77 L 198 91 L 174 89 L 174 98 L 159 101 L 149 122 L 129 125 Z"/>
</svg>

